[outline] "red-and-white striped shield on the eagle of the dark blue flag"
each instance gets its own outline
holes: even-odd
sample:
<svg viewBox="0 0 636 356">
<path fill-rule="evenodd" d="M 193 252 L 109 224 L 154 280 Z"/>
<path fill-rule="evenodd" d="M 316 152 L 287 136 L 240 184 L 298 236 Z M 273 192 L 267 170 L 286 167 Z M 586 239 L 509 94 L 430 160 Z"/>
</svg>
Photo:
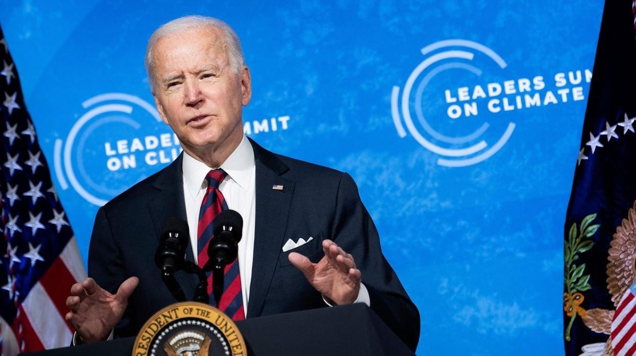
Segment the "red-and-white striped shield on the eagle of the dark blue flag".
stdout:
<svg viewBox="0 0 636 356">
<path fill-rule="evenodd" d="M 636 283 L 632 284 L 618 303 L 612 319 L 612 348 L 614 355 L 625 356 L 636 353 Z"/>
</svg>

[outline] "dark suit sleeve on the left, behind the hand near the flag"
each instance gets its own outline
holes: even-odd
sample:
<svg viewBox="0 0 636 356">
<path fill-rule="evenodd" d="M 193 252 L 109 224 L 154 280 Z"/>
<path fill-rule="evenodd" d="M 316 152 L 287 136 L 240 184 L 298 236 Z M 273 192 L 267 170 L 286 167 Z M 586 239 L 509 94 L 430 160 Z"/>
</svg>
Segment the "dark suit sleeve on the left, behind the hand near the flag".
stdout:
<svg viewBox="0 0 636 356">
<path fill-rule="evenodd" d="M 121 283 L 130 277 L 121 257 L 120 246 L 116 243 L 111 224 L 104 207 L 97 210 L 93 233 L 88 248 L 88 276 L 111 294 L 115 294 Z M 130 330 L 130 318 L 134 315 L 132 298 L 128 300 L 120 322 L 115 326 L 114 337 L 134 336 L 136 331 Z"/>
</svg>

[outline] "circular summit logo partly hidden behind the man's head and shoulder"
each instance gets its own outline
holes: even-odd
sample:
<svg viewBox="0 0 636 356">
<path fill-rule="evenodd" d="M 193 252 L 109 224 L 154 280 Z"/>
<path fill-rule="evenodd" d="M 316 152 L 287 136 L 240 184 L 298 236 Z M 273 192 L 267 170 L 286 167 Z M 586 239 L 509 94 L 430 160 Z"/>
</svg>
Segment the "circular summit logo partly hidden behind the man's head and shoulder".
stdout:
<svg viewBox="0 0 636 356">
<path fill-rule="evenodd" d="M 82 106 L 66 141 L 56 139 L 53 158 L 60 187 L 92 204 L 106 204 L 181 153 L 156 108 L 137 96 L 100 94 Z"/>
</svg>

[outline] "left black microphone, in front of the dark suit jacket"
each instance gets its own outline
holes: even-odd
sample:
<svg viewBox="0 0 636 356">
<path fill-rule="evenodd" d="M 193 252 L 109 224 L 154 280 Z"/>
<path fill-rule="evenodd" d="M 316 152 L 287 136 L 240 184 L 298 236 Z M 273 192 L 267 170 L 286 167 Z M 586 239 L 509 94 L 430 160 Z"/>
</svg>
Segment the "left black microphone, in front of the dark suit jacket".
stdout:
<svg viewBox="0 0 636 356">
<path fill-rule="evenodd" d="M 172 217 L 165 223 L 155 253 L 155 264 L 161 269 L 162 278 L 172 278 L 183 268 L 189 235 L 188 223 L 182 218 Z"/>
</svg>

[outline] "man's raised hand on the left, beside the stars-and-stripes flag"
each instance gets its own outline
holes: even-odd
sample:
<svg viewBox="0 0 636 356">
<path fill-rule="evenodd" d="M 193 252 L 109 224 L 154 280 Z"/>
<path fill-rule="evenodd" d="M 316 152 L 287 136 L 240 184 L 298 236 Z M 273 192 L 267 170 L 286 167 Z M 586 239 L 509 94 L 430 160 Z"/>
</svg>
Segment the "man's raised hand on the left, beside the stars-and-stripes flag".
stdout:
<svg viewBox="0 0 636 356">
<path fill-rule="evenodd" d="M 114 295 L 99 287 L 93 278 L 86 278 L 71 287 L 71 295 L 66 299 L 66 306 L 71 311 L 66 313 L 66 320 L 73 325 L 82 343 L 108 338 L 138 284 L 139 278 L 130 277 L 121 283 Z"/>
</svg>

